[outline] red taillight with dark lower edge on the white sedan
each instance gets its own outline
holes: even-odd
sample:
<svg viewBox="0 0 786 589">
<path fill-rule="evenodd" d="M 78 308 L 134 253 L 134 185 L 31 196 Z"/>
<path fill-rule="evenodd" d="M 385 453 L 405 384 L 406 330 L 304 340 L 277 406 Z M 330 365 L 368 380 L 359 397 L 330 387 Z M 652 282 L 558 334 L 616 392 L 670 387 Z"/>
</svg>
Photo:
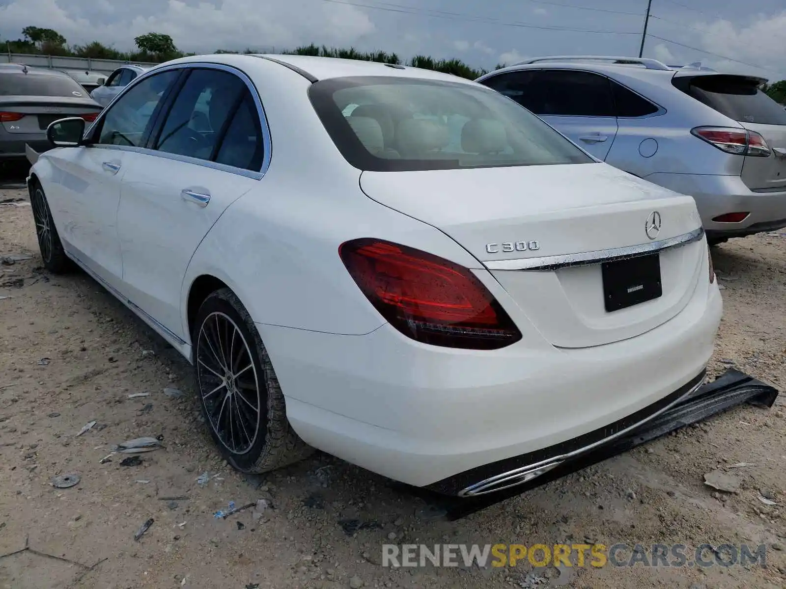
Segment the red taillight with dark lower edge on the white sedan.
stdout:
<svg viewBox="0 0 786 589">
<path fill-rule="evenodd" d="M 339 255 L 376 310 L 418 342 L 498 349 L 521 338 L 494 296 L 461 265 L 367 238 L 342 243 Z"/>
</svg>

